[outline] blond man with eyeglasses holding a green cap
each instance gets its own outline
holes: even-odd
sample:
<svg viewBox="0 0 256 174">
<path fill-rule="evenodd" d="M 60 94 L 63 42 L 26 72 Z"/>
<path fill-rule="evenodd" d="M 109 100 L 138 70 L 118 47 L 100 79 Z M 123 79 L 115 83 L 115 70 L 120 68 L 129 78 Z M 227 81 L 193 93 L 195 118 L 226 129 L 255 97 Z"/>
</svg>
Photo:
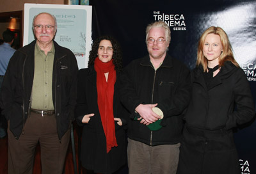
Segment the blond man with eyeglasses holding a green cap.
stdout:
<svg viewBox="0 0 256 174">
<path fill-rule="evenodd" d="M 179 161 L 182 113 L 188 106 L 189 69 L 166 52 L 170 28 L 162 21 L 146 29 L 148 55 L 125 67 L 121 100 L 128 123 L 129 173 L 174 174 Z"/>
</svg>

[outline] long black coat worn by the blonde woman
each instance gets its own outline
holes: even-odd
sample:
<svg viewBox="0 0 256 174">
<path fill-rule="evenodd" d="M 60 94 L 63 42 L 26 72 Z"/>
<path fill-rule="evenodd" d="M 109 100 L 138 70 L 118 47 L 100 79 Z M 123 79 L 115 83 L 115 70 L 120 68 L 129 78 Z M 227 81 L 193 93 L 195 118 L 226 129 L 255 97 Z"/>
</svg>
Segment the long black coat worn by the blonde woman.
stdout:
<svg viewBox="0 0 256 174">
<path fill-rule="evenodd" d="M 241 68 L 225 62 L 208 88 L 203 68 L 195 68 L 177 173 L 241 173 L 232 128 L 254 115 L 252 93 Z"/>
</svg>

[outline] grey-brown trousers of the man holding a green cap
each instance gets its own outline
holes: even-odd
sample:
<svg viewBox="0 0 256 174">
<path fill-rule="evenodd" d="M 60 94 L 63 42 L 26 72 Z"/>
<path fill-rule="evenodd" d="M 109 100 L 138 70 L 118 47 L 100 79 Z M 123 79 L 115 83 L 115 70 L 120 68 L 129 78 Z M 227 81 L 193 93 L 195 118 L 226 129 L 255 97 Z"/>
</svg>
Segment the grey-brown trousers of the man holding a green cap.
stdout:
<svg viewBox="0 0 256 174">
<path fill-rule="evenodd" d="M 128 138 L 128 168 L 131 174 L 176 174 L 180 143 L 148 146 Z"/>
</svg>

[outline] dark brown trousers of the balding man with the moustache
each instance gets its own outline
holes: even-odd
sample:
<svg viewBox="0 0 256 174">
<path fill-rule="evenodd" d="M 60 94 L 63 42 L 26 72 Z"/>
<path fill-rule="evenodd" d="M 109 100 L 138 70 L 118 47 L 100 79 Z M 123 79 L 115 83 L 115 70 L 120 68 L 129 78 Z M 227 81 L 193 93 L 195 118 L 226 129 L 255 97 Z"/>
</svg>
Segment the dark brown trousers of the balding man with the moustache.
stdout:
<svg viewBox="0 0 256 174">
<path fill-rule="evenodd" d="M 70 129 L 58 138 L 56 118 L 31 113 L 24 133 L 15 139 L 8 125 L 8 173 L 33 173 L 35 149 L 40 143 L 42 174 L 62 173 L 70 139 Z"/>
</svg>

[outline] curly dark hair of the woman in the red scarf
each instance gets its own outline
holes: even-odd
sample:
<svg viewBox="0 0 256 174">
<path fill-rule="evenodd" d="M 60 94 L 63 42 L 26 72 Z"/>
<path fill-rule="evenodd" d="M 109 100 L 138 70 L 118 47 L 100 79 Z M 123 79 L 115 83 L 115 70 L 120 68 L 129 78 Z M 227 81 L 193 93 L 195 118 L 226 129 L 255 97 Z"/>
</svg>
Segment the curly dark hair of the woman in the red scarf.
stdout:
<svg viewBox="0 0 256 174">
<path fill-rule="evenodd" d="M 109 40 L 112 44 L 113 47 L 113 64 L 115 65 L 115 70 L 118 72 L 122 71 L 122 51 L 121 47 L 118 44 L 118 42 L 113 38 L 112 36 L 100 36 L 97 38 L 93 43 L 92 43 L 92 50 L 90 51 L 89 54 L 89 61 L 88 61 L 88 67 L 93 67 L 94 66 L 94 60 L 95 58 L 98 57 L 98 49 L 99 49 L 99 44 L 100 41 L 102 40 Z"/>
</svg>

